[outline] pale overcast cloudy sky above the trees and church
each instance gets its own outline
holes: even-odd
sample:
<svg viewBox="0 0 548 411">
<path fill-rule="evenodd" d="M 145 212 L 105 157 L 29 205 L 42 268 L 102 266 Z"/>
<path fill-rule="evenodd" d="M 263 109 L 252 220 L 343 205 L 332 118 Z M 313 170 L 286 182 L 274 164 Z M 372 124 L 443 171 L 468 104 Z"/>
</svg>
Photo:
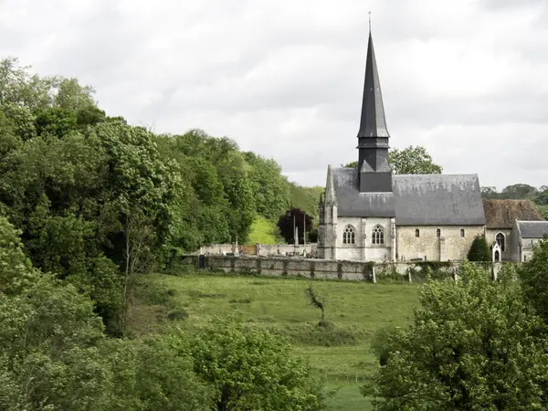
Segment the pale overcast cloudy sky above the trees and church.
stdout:
<svg viewBox="0 0 548 411">
<path fill-rule="evenodd" d="M 391 145 L 481 185 L 548 184 L 548 1 L 0 0 L 0 50 L 156 132 L 324 184 L 357 158 L 372 11 Z"/>
</svg>

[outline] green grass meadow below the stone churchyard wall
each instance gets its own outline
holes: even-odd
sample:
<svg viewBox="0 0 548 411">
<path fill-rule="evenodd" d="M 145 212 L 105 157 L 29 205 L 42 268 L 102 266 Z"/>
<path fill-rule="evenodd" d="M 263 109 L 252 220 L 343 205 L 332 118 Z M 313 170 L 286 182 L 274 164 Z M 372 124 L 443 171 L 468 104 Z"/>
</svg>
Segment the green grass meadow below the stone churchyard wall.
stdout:
<svg viewBox="0 0 548 411">
<path fill-rule="evenodd" d="M 417 287 L 410 284 L 312 282 L 325 300 L 329 332 L 316 326 L 320 311 L 308 305 L 307 279 L 189 274 L 141 277 L 130 316 L 134 335 L 162 332 L 172 324 L 192 330 L 214 315 L 241 311 L 246 321 L 280 332 L 307 357 L 329 388 L 339 387 L 331 410 L 367 410 L 359 392 L 377 361 L 369 342 L 378 329 L 411 321 Z M 169 320 L 180 310 L 182 321 Z"/>
</svg>

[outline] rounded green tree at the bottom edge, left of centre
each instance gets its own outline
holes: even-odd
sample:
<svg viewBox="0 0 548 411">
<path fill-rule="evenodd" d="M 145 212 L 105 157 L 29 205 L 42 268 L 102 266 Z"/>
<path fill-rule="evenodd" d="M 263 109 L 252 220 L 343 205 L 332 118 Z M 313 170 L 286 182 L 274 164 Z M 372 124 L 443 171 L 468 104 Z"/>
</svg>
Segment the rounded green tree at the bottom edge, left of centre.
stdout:
<svg viewBox="0 0 548 411">
<path fill-rule="evenodd" d="M 324 395 L 316 373 L 268 331 L 234 318 L 216 321 L 185 345 L 194 370 L 215 390 L 218 411 L 320 410 Z"/>
</svg>

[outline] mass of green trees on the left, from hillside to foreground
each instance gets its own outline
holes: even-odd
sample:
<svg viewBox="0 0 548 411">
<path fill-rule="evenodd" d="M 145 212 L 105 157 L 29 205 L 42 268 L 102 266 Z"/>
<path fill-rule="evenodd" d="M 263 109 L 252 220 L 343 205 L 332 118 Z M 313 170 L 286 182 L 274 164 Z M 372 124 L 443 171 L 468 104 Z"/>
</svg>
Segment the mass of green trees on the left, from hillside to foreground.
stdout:
<svg viewBox="0 0 548 411">
<path fill-rule="evenodd" d="M 321 409 L 311 367 L 238 319 L 125 327 L 135 274 L 244 243 L 291 206 L 316 216 L 316 191 L 227 137 L 109 116 L 93 93 L 0 60 L 0 408 Z"/>
</svg>

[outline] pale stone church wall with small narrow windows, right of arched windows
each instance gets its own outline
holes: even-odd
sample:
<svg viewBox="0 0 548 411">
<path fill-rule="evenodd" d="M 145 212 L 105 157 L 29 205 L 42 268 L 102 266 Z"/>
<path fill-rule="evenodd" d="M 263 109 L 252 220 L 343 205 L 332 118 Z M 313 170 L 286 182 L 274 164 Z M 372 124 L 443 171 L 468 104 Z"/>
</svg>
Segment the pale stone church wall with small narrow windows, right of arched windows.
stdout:
<svg viewBox="0 0 548 411">
<path fill-rule="evenodd" d="M 440 237 L 437 237 L 437 228 Z M 416 237 L 416 229 L 419 237 Z M 460 230 L 464 229 L 464 237 Z M 483 234 L 483 226 L 399 226 L 396 227 L 396 252 L 398 261 L 427 258 L 429 261 L 460 260 L 469 252 L 477 235 Z"/>
</svg>

